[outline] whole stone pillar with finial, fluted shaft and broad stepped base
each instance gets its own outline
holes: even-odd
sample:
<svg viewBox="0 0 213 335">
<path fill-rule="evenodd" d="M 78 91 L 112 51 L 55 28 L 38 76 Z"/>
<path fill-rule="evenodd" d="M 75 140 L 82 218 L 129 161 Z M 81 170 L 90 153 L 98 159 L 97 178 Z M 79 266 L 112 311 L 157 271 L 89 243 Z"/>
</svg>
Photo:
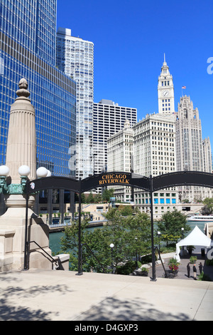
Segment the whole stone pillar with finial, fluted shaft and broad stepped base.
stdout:
<svg viewBox="0 0 213 335">
<path fill-rule="evenodd" d="M 30 180 L 36 173 L 35 110 L 28 99 L 28 84 L 24 78 L 19 82 L 19 90 L 11 105 L 9 135 L 6 151 L 6 165 L 10 170 L 11 184 L 5 195 L 7 211 L 0 217 L 0 272 L 9 269 L 23 269 L 26 233 L 26 195 L 20 187 L 18 168 L 28 165 Z M 20 191 L 21 190 L 21 191 Z M 28 242 L 35 241 L 45 252 L 49 249 L 49 229 L 43 220 L 35 215 L 32 208 L 35 196 L 28 201 L 27 232 Z M 37 244 L 29 244 L 29 267 L 52 269 L 52 262 Z"/>
</svg>

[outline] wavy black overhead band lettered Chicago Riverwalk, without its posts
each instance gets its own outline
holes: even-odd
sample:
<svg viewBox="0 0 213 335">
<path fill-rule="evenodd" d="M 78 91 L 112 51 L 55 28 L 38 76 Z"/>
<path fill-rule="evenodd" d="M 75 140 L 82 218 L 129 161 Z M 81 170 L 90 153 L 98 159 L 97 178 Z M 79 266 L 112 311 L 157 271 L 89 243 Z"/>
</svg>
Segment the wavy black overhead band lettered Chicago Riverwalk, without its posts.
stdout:
<svg viewBox="0 0 213 335">
<path fill-rule="evenodd" d="M 197 171 L 172 172 L 156 177 L 144 177 L 130 172 L 106 172 L 92 175 L 83 180 L 71 177 L 43 177 L 28 180 L 26 193 L 31 194 L 40 190 L 64 189 L 77 193 L 87 192 L 97 187 L 124 185 L 155 192 L 166 187 L 194 185 L 213 187 L 213 174 Z"/>
</svg>

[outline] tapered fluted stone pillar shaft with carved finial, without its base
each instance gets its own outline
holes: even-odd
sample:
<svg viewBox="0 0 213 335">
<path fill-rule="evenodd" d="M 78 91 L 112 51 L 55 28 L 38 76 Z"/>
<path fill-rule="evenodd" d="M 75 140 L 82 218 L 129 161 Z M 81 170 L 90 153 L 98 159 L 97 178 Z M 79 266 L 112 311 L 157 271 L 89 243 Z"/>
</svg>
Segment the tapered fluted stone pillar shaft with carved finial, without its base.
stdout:
<svg viewBox="0 0 213 335">
<path fill-rule="evenodd" d="M 22 78 L 19 90 L 11 105 L 9 132 L 6 148 L 6 166 L 10 170 L 12 183 L 20 182 L 18 168 L 28 165 L 31 172 L 28 176 L 33 180 L 36 177 L 36 140 L 35 140 L 35 110 L 28 98 L 28 83 Z"/>
</svg>

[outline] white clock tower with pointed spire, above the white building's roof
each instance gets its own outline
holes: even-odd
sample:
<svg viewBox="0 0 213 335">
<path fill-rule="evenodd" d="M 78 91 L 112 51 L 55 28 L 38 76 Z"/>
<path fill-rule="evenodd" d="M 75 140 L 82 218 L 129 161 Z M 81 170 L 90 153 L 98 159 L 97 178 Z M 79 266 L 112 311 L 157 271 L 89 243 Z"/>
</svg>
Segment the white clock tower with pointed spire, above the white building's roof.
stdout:
<svg viewBox="0 0 213 335">
<path fill-rule="evenodd" d="M 158 113 L 173 114 L 175 112 L 175 98 L 173 76 L 170 75 L 169 67 L 165 61 L 158 77 Z"/>
</svg>

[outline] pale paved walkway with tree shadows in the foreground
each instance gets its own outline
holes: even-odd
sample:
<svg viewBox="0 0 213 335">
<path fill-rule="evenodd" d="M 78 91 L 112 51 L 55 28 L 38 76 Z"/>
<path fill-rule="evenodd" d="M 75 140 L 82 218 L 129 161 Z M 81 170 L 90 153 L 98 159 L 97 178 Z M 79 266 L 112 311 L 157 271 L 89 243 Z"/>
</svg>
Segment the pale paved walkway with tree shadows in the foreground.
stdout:
<svg viewBox="0 0 213 335">
<path fill-rule="evenodd" d="M 213 282 L 185 277 L 185 261 L 177 279 L 156 267 L 156 282 L 38 269 L 0 273 L 0 321 L 213 321 Z"/>
</svg>

